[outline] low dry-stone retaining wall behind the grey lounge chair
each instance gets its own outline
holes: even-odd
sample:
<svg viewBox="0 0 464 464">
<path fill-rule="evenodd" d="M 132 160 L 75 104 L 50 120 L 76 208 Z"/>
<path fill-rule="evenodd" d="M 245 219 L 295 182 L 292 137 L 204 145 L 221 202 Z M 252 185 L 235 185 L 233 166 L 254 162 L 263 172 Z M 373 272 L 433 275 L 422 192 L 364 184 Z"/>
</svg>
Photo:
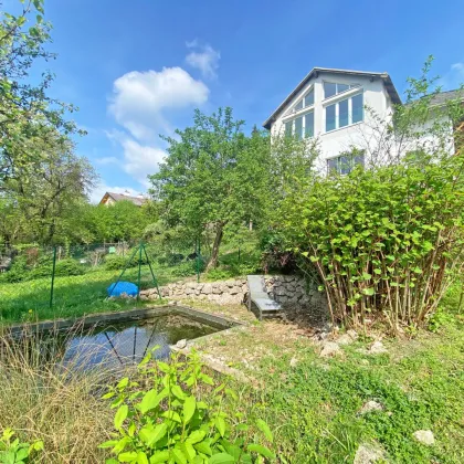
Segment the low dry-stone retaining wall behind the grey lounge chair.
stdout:
<svg viewBox="0 0 464 464">
<path fill-rule="evenodd" d="M 325 297 L 314 286 L 308 287 L 304 278 L 295 275 L 268 275 L 265 277 L 268 295 L 284 308 L 327 307 Z M 169 299 L 207 299 L 220 305 L 241 304 L 247 293 L 246 278 L 221 282 L 184 282 L 160 287 L 161 296 Z M 140 292 L 141 299 L 156 299 L 158 292 L 149 288 Z"/>
</svg>

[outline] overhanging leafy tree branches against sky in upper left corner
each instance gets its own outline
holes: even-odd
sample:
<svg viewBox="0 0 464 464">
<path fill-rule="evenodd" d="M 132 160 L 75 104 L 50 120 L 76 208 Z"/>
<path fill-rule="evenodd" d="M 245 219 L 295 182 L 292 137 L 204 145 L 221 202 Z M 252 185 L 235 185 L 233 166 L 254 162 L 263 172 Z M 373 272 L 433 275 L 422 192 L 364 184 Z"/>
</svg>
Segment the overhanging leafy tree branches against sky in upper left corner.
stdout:
<svg viewBox="0 0 464 464">
<path fill-rule="evenodd" d="M 51 24 L 43 20 L 43 0 L 20 1 L 22 11 L 13 15 L 3 11 L 0 0 L 0 192 L 8 180 L 28 176 L 43 161 L 48 152 L 38 139 L 76 131 L 64 118 L 75 108 L 48 95 L 52 74 L 45 72 L 39 85 L 29 82 L 33 63 L 54 54 L 45 49 Z"/>
</svg>

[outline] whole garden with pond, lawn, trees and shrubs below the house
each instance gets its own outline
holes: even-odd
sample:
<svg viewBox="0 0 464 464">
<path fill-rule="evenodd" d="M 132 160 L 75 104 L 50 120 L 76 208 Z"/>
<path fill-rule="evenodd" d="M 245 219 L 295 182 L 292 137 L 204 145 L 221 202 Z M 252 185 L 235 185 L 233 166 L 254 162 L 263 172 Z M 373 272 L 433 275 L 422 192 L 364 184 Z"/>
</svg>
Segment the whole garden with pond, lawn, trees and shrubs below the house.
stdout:
<svg viewBox="0 0 464 464">
<path fill-rule="evenodd" d="M 464 108 L 432 105 L 433 60 L 391 118 L 365 108 L 349 172 L 197 109 L 143 205 L 95 205 L 74 108 L 27 80 L 43 14 L 0 22 L 0 463 L 464 462 Z M 292 280 L 278 318 L 139 294 L 250 274 Z"/>
</svg>

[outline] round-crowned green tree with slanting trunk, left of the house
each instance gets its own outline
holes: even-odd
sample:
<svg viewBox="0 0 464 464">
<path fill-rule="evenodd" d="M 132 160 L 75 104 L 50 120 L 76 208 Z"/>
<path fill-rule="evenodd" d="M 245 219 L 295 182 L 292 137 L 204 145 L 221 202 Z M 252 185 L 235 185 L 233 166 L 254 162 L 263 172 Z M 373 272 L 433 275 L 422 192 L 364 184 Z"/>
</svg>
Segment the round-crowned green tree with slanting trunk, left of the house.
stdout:
<svg viewBox="0 0 464 464">
<path fill-rule="evenodd" d="M 209 267 L 218 264 L 224 229 L 256 221 L 266 210 L 268 140 L 259 133 L 246 137 L 243 125 L 232 108 L 211 116 L 197 109 L 192 127 L 176 130 L 179 139 L 166 138 L 169 157 L 150 177 L 169 226 L 182 225 L 192 239 L 214 231 Z"/>
</svg>

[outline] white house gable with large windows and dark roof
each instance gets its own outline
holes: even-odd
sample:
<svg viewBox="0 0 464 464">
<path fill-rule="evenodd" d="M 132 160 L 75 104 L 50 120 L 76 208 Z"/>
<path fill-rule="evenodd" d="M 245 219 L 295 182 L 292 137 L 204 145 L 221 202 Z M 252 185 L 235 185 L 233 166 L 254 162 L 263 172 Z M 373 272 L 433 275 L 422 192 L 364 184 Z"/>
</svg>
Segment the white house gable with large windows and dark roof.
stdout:
<svg viewBox="0 0 464 464">
<path fill-rule="evenodd" d="M 432 105 L 443 105 L 453 96 L 439 94 Z M 378 124 L 373 114 L 384 120 L 398 104 L 401 98 L 388 73 L 315 67 L 264 127 L 274 136 L 317 137 L 319 169 L 346 173 L 354 164 L 365 164 L 365 155 L 361 151 L 347 164 L 340 154 L 354 147 L 366 151 L 375 139 L 372 127 Z"/>
</svg>

